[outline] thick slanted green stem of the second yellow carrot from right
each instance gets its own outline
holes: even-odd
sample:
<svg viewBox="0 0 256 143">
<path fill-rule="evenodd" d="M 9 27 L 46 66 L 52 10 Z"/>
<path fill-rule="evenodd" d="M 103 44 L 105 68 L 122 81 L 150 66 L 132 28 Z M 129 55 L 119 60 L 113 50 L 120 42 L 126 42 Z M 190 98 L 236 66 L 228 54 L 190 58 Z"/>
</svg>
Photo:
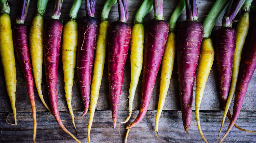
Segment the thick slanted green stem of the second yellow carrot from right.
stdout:
<svg viewBox="0 0 256 143">
<path fill-rule="evenodd" d="M 220 17 L 224 9 L 227 7 L 228 3 L 229 0 L 217 0 L 215 2 L 203 22 L 203 38 L 211 36 L 212 28 L 214 27 L 217 19 Z"/>
</svg>

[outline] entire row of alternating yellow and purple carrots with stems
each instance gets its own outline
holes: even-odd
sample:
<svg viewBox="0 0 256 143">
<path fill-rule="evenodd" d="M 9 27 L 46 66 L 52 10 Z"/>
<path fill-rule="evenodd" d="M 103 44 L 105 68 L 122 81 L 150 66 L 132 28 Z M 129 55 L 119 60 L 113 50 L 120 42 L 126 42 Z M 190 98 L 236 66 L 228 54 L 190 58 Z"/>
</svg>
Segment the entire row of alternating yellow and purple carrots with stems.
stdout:
<svg viewBox="0 0 256 143">
<path fill-rule="evenodd" d="M 132 103 L 141 70 L 143 78 L 139 114 L 135 121 L 127 126 L 128 130 L 125 142 L 127 141 L 130 128 L 138 124 L 147 112 L 156 76 L 162 62 L 160 96 L 155 123 L 155 132 L 158 133 L 160 114 L 170 84 L 176 53 L 182 120 L 187 133 L 191 123 L 192 92 L 197 71 L 195 114 L 200 135 L 207 142 L 201 130 L 199 110 L 214 56 L 217 62 L 221 101 L 225 110 L 219 135 L 225 117 L 227 116 L 231 120 L 228 130 L 220 142 L 224 140 L 233 125 L 242 131 L 256 132 L 242 129 L 235 124 L 242 107 L 248 83 L 256 68 L 256 25 L 254 25 L 250 44 L 240 66 L 241 53 L 249 27 L 248 12 L 252 0 L 217 0 L 203 25 L 197 21 L 196 0 L 181 0 L 174 10 L 169 23 L 163 20 L 163 0 L 144 0 L 135 16 L 135 24 L 132 28 L 126 23 L 129 15 L 126 0 L 107 0 L 102 10 L 100 23 L 94 18 L 96 0 L 86 0 L 86 16 L 81 19 L 79 24 L 76 22 L 76 17 L 82 0 L 75 0 L 70 10 L 70 20 L 64 27 L 59 20 L 62 0 L 55 1 L 52 17 L 45 24 L 43 22 L 43 16 L 48 0 L 38 0 L 37 13 L 28 34 L 24 21 L 28 12 L 29 1 L 22 0 L 17 14 L 16 24 L 13 30 L 11 30 L 11 22 L 8 15 L 10 13 L 10 7 L 8 6 L 7 0 L 1 0 L 0 54 L 15 124 L 17 124 L 15 109 L 15 48 L 17 58 L 26 78 L 26 86 L 32 107 L 34 142 L 36 135 L 36 115 L 31 69 L 33 69 L 38 95 L 45 107 L 53 114 L 59 126 L 77 142 L 80 142 L 64 127 L 58 112 L 56 85 L 58 59 L 61 48 L 65 82 L 64 89 L 74 127 L 75 121 L 71 107 L 71 93 L 75 65 L 77 67 L 81 97 L 85 107 L 82 116 L 86 115 L 90 103 L 88 142 L 90 142 L 90 130 L 96 109 L 106 53 L 108 53 L 109 96 L 113 128 L 116 127 L 123 83 L 123 69 L 128 55 L 129 45 L 131 48 L 129 114 L 127 119 L 121 123 L 126 123 L 131 117 Z M 115 3 L 118 4 L 118 21 L 109 24 L 107 21 L 109 11 Z M 185 8 L 187 20 L 178 26 L 176 36 L 176 21 Z M 225 8 L 223 25 L 218 29 L 216 41 L 213 44 L 210 37 L 211 31 L 216 20 Z M 231 27 L 232 21 L 240 8 L 242 14 L 235 30 Z M 143 18 L 151 9 L 154 9 L 154 17 L 144 28 Z M 61 41 L 63 41 L 62 45 Z M 41 89 L 43 59 L 51 109 L 46 105 Z M 92 69 L 93 64 L 94 69 Z M 93 77 L 91 84 L 92 71 Z M 231 116 L 229 106 L 234 94 L 235 104 L 233 115 Z"/>
</svg>

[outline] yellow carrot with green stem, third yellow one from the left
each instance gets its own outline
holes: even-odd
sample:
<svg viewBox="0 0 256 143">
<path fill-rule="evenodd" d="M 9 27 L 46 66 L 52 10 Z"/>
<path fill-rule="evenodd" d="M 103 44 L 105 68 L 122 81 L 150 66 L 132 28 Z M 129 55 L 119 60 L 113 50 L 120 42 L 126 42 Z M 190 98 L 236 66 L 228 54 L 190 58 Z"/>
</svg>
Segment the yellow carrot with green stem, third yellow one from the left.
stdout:
<svg viewBox="0 0 256 143">
<path fill-rule="evenodd" d="M 78 24 L 76 22 L 76 15 L 83 0 L 75 0 L 70 10 L 70 20 L 63 27 L 63 43 L 62 43 L 62 68 L 64 73 L 64 89 L 66 93 L 66 100 L 71 114 L 72 123 L 75 127 L 75 116 L 71 106 L 73 78 L 75 73 L 75 59 L 78 41 Z M 76 130 L 76 127 L 75 127 Z M 77 130 L 76 130 L 77 135 Z"/>
</svg>

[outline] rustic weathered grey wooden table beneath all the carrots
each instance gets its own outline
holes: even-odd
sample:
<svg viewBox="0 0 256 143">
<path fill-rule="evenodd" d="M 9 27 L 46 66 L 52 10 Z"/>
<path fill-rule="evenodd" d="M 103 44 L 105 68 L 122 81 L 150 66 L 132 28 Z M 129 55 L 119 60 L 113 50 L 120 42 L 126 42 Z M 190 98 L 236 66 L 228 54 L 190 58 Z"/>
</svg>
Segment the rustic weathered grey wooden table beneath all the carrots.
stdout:
<svg viewBox="0 0 256 143">
<path fill-rule="evenodd" d="M 178 0 L 164 0 L 164 19 L 168 21 L 171 17 L 171 14 L 175 7 L 178 4 Z M 207 13 L 213 6 L 215 0 L 197 0 L 198 7 L 198 17 L 199 22 L 203 23 Z M 95 17 L 100 20 L 100 14 L 102 7 L 105 3 L 105 0 L 97 0 Z M 139 9 L 142 0 L 127 0 L 128 8 L 129 8 L 129 20 L 127 21 L 129 24 L 133 25 L 133 20 L 137 10 Z M 18 6 L 20 1 L 17 0 L 9 0 L 9 5 L 11 7 L 11 23 L 15 23 L 15 15 L 17 13 Z M 62 9 L 61 9 L 61 17 L 63 23 L 66 23 L 69 19 L 68 14 L 70 8 L 73 4 L 73 0 L 64 0 Z M 31 0 L 29 6 L 29 12 L 25 24 L 28 26 L 31 25 L 32 19 L 36 12 L 36 0 Z M 255 5 L 255 1 L 253 2 Z M 48 7 L 46 9 L 45 19 L 51 17 L 51 9 L 53 6 L 53 0 L 50 0 L 48 3 Z M 85 13 L 85 1 L 83 1 L 80 10 L 78 11 L 78 21 L 79 18 L 83 17 Z M 238 14 L 239 15 L 239 14 Z M 223 16 L 223 15 L 222 15 Z M 222 17 L 221 16 L 221 17 Z M 118 11 L 117 4 L 113 6 L 109 14 L 109 21 L 113 22 L 117 20 Z M 153 10 L 145 17 L 145 24 L 147 21 L 152 19 Z M 185 11 L 181 14 L 181 17 L 177 21 L 177 26 L 179 26 L 180 22 L 185 20 Z M 238 18 L 236 18 L 238 19 Z M 254 16 L 250 14 L 250 22 L 253 22 Z M 236 23 L 233 24 L 234 27 Z M 212 37 L 214 39 L 214 35 L 218 27 L 221 26 L 221 18 L 218 19 L 216 25 L 212 32 Z M 249 30 L 251 31 L 251 30 Z M 250 32 L 247 37 L 250 36 Z M 248 44 L 248 38 L 246 39 L 245 46 Z M 130 54 L 130 53 L 129 53 Z M 61 56 L 60 56 L 61 57 Z M 61 59 L 60 59 L 61 61 Z M 203 142 L 199 132 L 197 125 L 193 128 L 189 129 L 189 133 L 184 132 L 182 119 L 181 119 L 181 111 L 179 104 L 179 95 L 178 95 L 178 79 L 177 79 L 177 62 L 175 61 L 175 66 L 173 69 L 173 74 L 171 78 L 170 87 L 167 93 L 164 111 L 161 114 L 160 125 L 159 125 L 159 140 L 160 142 Z M 6 85 L 4 81 L 3 67 L 0 64 L 0 142 L 32 142 L 32 113 L 31 106 L 28 99 L 28 94 L 25 86 L 25 78 L 21 71 L 21 67 L 16 59 L 16 70 L 17 70 L 17 90 L 16 90 L 16 109 L 17 109 L 17 125 L 9 125 L 6 123 L 6 119 L 9 112 L 12 112 L 10 101 L 6 91 Z M 43 70 L 44 74 L 44 70 Z M 141 76 L 142 77 L 142 76 Z M 139 80 L 139 85 L 136 90 L 136 95 L 134 99 L 133 105 L 133 114 L 128 123 L 133 121 L 139 110 L 140 98 L 141 98 L 141 79 Z M 124 69 L 124 82 L 123 89 L 121 94 L 121 104 L 119 106 L 119 114 L 118 114 L 118 122 L 124 121 L 128 114 L 128 95 L 129 95 L 129 85 L 130 85 L 130 58 L 128 55 L 127 63 Z M 64 121 L 65 127 L 73 134 L 75 134 L 75 129 L 73 127 L 70 113 L 68 112 L 65 92 L 64 92 L 64 82 L 63 82 L 63 70 L 62 64 L 59 64 L 59 72 L 58 72 L 58 105 L 60 111 L 60 117 Z M 246 97 L 243 103 L 242 111 L 240 113 L 239 119 L 237 120 L 237 124 L 248 130 L 256 130 L 256 103 L 253 102 L 253 99 L 256 99 L 256 74 L 253 75 L 251 82 L 249 84 Z M 154 132 L 154 124 L 155 124 L 155 116 L 156 109 L 158 105 L 159 98 L 159 88 L 160 88 L 160 72 L 157 76 L 157 80 L 155 83 L 155 88 L 153 90 L 152 99 L 149 105 L 149 110 L 144 117 L 144 119 L 134 128 L 130 130 L 128 136 L 128 142 L 159 142 Z M 46 80 L 43 75 L 42 81 L 42 89 L 44 94 L 44 99 L 46 103 L 49 105 L 47 89 L 46 89 Z M 36 117 L 37 117 L 37 142 L 75 142 L 71 138 L 71 136 L 67 135 L 62 131 L 62 129 L 56 123 L 54 117 L 46 110 L 46 108 L 41 103 L 36 88 L 34 86 L 35 92 L 35 102 L 36 102 Z M 87 142 L 87 124 L 89 119 L 89 113 L 81 117 L 83 110 L 83 105 L 81 103 L 80 91 L 77 83 L 77 74 L 75 73 L 74 78 L 74 86 L 73 86 L 73 97 L 72 97 L 72 108 L 75 114 L 75 124 L 78 132 L 78 139 L 81 142 Z M 126 133 L 126 125 L 120 125 L 120 134 L 118 133 L 118 128 L 112 128 L 112 116 L 111 116 L 111 108 L 110 102 L 108 98 L 108 79 L 107 79 L 107 64 L 105 64 L 103 78 L 100 87 L 100 94 L 98 103 L 96 106 L 94 123 L 91 130 L 91 142 L 124 142 L 124 137 Z M 195 86 L 193 98 L 195 99 Z M 232 105 L 231 105 L 232 106 Z M 194 113 L 194 112 L 193 112 Z M 214 63 L 212 66 L 212 72 L 210 72 L 209 78 L 206 83 L 204 97 L 201 104 L 201 126 L 203 133 L 206 139 L 209 142 L 217 142 L 218 132 L 221 126 L 223 111 L 220 104 L 220 96 L 219 89 L 217 83 L 217 72 L 216 72 L 216 64 Z M 13 114 L 11 113 L 8 122 L 14 122 Z M 192 116 L 192 125 L 196 124 L 195 115 Z M 223 133 L 226 131 L 228 127 L 229 121 L 226 119 L 224 124 Z M 256 142 L 256 134 L 253 133 L 245 133 L 236 128 L 232 128 L 232 131 L 225 138 L 225 142 Z"/>
</svg>

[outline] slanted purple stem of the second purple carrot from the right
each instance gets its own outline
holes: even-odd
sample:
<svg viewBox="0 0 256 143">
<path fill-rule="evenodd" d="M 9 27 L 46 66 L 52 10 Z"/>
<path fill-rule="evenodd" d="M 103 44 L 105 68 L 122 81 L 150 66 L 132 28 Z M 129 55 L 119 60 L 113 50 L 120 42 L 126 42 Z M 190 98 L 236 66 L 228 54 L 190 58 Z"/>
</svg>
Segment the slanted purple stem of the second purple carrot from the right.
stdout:
<svg viewBox="0 0 256 143">
<path fill-rule="evenodd" d="M 245 0 L 231 0 L 223 16 L 223 20 L 222 20 L 223 27 L 232 26 L 232 21 L 234 20 L 236 14 L 240 10 L 244 2 Z"/>
</svg>

